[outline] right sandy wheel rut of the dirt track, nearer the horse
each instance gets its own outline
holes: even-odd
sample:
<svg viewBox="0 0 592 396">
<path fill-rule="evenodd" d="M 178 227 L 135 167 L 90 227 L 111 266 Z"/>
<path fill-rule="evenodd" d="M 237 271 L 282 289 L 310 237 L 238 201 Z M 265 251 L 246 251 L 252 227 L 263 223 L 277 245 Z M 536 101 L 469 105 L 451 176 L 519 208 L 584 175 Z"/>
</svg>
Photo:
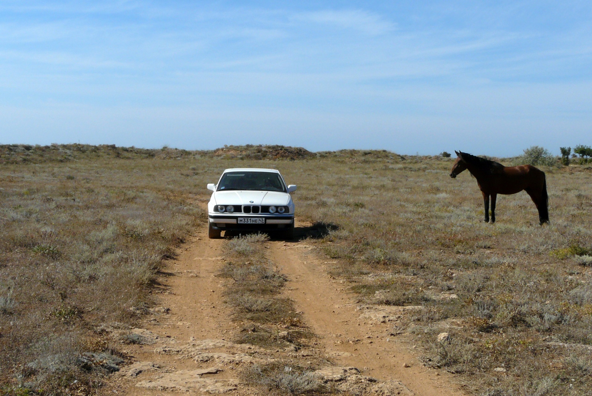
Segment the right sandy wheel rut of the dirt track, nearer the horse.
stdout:
<svg viewBox="0 0 592 396">
<path fill-rule="evenodd" d="M 408 342 L 390 335 L 392 326 L 362 318 L 355 295 L 330 278 L 328 263 L 313 247 L 300 242 L 269 245 L 270 258 L 290 280 L 286 295 L 337 365 L 355 366 L 381 380 L 397 379 L 418 396 L 465 395 L 439 371 L 421 365 Z"/>
</svg>

